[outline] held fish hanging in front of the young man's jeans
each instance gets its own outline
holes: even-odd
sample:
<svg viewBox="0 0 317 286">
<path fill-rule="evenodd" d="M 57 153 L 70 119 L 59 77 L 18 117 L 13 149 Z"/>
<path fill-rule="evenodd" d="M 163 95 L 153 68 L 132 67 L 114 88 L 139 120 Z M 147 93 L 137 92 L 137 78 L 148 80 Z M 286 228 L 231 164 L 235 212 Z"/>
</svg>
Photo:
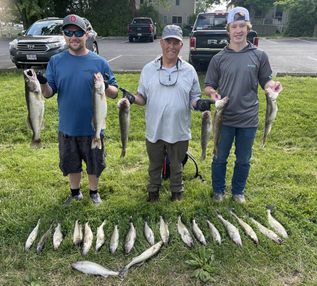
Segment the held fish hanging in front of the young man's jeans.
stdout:
<svg viewBox="0 0 317 286">
<path fill-rule="evenodd" d="M 229 104 L 229 97 L 224 97 L 223 99 L 219 99 L 215 102 L 216 111 L 214 114 L 214 124 L 213 124 L 213 132 L 214 132 L 214 156 L 217 158 L 218 154 L 218 142 L 220 140 L 220 131 L 222 125 L 223 114 Z"/>
</svg>

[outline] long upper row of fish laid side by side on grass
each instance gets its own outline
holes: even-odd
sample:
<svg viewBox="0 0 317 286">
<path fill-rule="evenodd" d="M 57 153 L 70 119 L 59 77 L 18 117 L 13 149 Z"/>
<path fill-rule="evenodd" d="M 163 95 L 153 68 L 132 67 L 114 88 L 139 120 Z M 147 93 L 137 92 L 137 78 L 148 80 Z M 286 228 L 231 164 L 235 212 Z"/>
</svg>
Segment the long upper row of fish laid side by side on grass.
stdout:
<svg viewBox="0 0 317 286">
<path fill-rule="evenodd" d="M 288 235 L 287 235 L 285 228 L 276 219 L 274 219 L 274 217 L 271 215 L 271 210 L 273 209 L 273 207 L 274 207 L 274 205 L 267 206 L 269 224 L 283 238 L 287 238 Z M 248 235 L 253 240 L 253 242 L 258 244 L 259 243 L 258 237 L 257 237 L 256 233 L 252 230 L 252 228 L 247 223 L 245 223 L 242 219 L 238 218 L 235 215 L 233 209 L 230 209 L 229 212 L 237 220 L 238 224 L 240 225 L 242 230 L 245 232 L 245 234 Z M 231 224 L 229 221 L 225 220 L 222 217 L 222 215 L 218 209 L 216 209 L 216 216 L 219 218 L 221 223 L 226 228 L 228 236 L 238 246 L 242 246 L 241 237 L 240 237 L 238 229 L 233 224 Z M 146 217 L 144 219 L 143 233 L 144 233 L 144 237 L 147 240 L 147 242 L 151 246 L 153 246 L 155 243 L 154 242 L 154 233 L 148 225 L 148 219 L 149 219 L 149 217 Z M 209 232 L 211 234 L 211 237 L 213 238 L 213 241 L 215 243 L 217 243 L 218 245 L 221 245 L 221 236 L 220 236 L 220 233 L 217 230 L 217 228 L 207 219 L 206 216 L 203 216 L 202 219 L 204 221 L 206 221 Z M 274 233 L 272 230 L 264 227 L 262 224 L 260 224 L 259 222 L 257 222 L 256 220 L 254 220 L 251 217 L 249 217 L 249 219 L 253 224 L 255 224 L 258 227 L 258 229 L 260 230 L 261 233 L 263 233 L 264 235 L 269 237 L 271 240 L 275 241 L 276 243 L 282 242 L 282 239 L 276 233 Z M 39 219 L 36 227 L 33 229 L 31 234 L 29 235 L 29 237 L 26 241 L 26 244 L 25 244 L 25 250 L 28 250 L 31 247 L 31 245 L 33 244 L 33 242 L 35 241 L 35 239 L 37 238 L 39 226 L 40 226 L 40 221 L 41 220 Z M 104 220 L 103 223 L 97 228 L 96 246 L 95 246 L 96 251 L 98 251 L 102 247 L 102 245 L 105 243 L 105 235 L 104 235 L 104 230 L 103 230 L 105 223 L 106 223 L 106 220 Z M 118 225 L 118 221 L 114 225 L 113 232 L 112 232 L 111 238 L 110 238 L 109 250 L 110 250 L 111 254 L 113 254 L 118 247 L 119 232 L 118 232 L 117 225 Z M 169 228 L 168 228 L 168 224 L 163 219 L 162 213 L 160 215 L 159 227 L 160 227 L 161 240 L 167 246 L 168 240 L 169 240 Z M 196 223 L 195 219 L 192 220 L 192 230 L 193 230 L 193 234 L 194 234 L 195 238 L 199 242 L 201 242 L 203 245 L 206 246 L 207 243 L 206 243 L 205 236 L 204 236 L 203 232 L 201 231 L 201 229 L 198 227 L 198 224 Z M 41 253 L 41 251 L 44 247 L 45 241 L 50 237 L 50 235 L 52 234 L 52 231 L 53 231 L 53 223 L 51 223 L 48 231 L 45 232 L 45 234 L 41 237 L 40 241 L 38 242 L 38 245 L 37 245 L 37 253 L 38 254 Z M 177 231 L 178 231 L 182 241 L 187 246 L 189 246 L 189 247 L 194 246 L 194 239 L 191 235 L 191 232 L 189 232 L 189 230 L 187 229 L 187 227 L 185 226 L 185 224 L 181 220 L 181 212 L 178 213 Z M 133 225 L 132 217 L 130 217 L 129 230 L 128 230 L 128 233 L 126 234 L 125 243 L 124 243 L 125 253 L 131 252 L 131 250 L 134 246 L 134 243 L 136 241 L 136 237 L 137 237 L 136 229 Z M 53 234 L 53 246 L 54 246 L 55 250 L 58 249 L 62 239 L 63 239 L 63 235 L 62 235 L 62 231 L 61 231 L 61 224 L 58 223 L 57 227 L 55 229 L 55 232 Z M 76 246 L 82 245 L 82 255 L 83 256 L 88 253 L 88 251 L 90 250 L 92 243 L 93 243 L 93 233 L 92 233 L 91 227 L 89 226 L 88 222 L 85 224 L 84 234 L 83 234 L 82 226 L 80 225 L 79 219 L 76 219 L 74 233 L 73 233 L 73 243 Z"/>
</svg>

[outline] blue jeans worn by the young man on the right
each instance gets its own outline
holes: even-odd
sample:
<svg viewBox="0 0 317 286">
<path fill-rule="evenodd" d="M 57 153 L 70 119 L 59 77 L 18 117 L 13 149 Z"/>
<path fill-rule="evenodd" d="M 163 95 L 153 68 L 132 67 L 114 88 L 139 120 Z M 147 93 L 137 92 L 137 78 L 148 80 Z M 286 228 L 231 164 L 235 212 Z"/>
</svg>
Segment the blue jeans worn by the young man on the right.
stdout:
<svg viewBox="0 0 317 286">
<path fill-rule="evenodd" d="M 226 188 L 227 159 L 235 138 L 234 170 L 232 176 L 232 194 L 243 194 L 247 176 L 250 170 L 252 145 L 256 137 L 257 127 L 236 128 L 222 125 L 218 142 L 217 158 L 211 163 L 212 187 L 215 193 L 224 194 Z"/>
</svg>

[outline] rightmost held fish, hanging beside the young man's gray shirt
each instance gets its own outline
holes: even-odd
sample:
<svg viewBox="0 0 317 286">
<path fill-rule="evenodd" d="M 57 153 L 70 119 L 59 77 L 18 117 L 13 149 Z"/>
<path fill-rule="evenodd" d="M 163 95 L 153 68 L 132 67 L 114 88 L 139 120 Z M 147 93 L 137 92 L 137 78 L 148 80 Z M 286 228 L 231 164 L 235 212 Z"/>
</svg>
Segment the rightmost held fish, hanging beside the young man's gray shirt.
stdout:
<svg viewBox="0 0 317 286">
<path fill-rule="evenodd" d="M 264 127 L 264 136 L 261 141 L 260 147 L 264 148 L 265 141 L 271 131 L 272 123 L 277 114 L 277 103 L 276 98 L 278 97 L 278 93 L 274 92 L 271 88 L 265 89 L 265 96 L 267 99 L 267 112 L 265 114 L 265 127 Z"/>
</svg>

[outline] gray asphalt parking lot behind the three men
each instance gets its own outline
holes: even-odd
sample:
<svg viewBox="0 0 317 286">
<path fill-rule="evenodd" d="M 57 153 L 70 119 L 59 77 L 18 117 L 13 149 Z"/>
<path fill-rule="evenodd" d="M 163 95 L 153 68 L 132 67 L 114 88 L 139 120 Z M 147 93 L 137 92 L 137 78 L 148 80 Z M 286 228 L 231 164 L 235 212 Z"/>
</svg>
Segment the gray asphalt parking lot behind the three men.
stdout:
<svg viewBox="0 0 317 286">
<path fill-rule="evenodd" d="M 16 69 L 11 62 L 9 42 L 0 39 L 0 69 Z M 189 39 L 184 38 L 180 55 L 188 60 Z M 162 53 L 159 39 L 153 43 L 128 38 L 101 38 L 98 43 L 99 55 L 108 60 L 113 70 L 137 70 Z M 273 75 L 277 73 L 317 73 L 316 38 L 267 38 L 259 40 L 259 47 L 269 56 Z"/>
</svg>

